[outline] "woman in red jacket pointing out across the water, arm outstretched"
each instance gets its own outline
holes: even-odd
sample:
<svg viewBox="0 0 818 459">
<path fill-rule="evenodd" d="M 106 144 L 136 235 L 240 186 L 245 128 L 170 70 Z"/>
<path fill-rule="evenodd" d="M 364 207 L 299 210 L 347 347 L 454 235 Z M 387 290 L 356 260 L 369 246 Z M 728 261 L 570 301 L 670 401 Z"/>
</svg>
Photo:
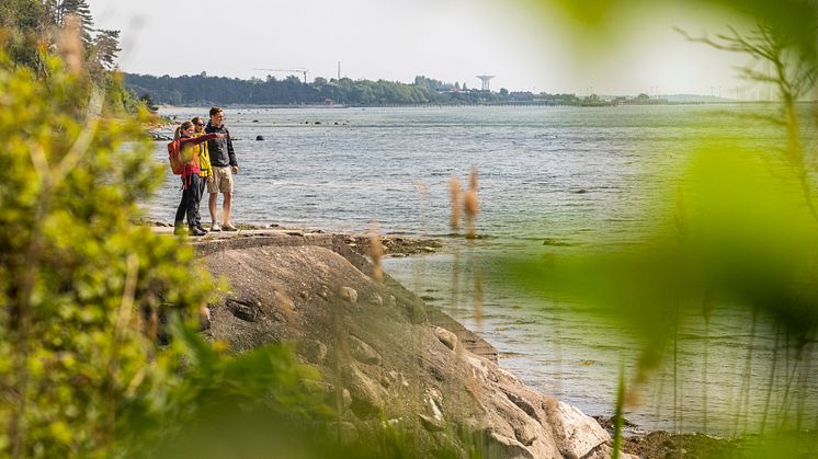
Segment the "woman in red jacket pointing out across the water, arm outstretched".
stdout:
<svg viewBox="0 0 818 459">
<path fill-rule="evenodd" d="M 198 144 L 212 139 L 223 139 L 224 134 L 213 133 L 193 137 L 195 131 L 193 123 L 184 122 L 177 129 L 175 138 L 180 141 L 182 158 L 185 160 L 184 172 L 182 172 L 182 202 L 177 208 L 174 220 L 174 234 L 183 233 L 183 218 L 188 218 L 188 233 L 190 236 L 204 236 L 207 231 L 196 226 L 196 210 L 198 207 L 198 173 L 201 171 Z"/>
</svg>

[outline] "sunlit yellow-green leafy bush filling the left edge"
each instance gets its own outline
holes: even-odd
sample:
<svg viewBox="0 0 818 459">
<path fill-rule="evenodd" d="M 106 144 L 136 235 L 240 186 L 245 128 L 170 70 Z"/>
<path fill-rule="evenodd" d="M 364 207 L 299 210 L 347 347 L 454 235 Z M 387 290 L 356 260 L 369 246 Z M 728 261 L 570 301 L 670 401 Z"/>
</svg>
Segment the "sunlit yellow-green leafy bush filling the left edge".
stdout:
<svg viewBox="0 0 818 459">
<path fill-rule="evenodd" d="M 130 222 L 161 179 L 148 115 L 43 62 L 47 80 L 0 53 L 0 448 L 106 456 L 123 410 L 179 365 L 157 345 L 162 302 L 196 311 L 211 283 L 190 249 Z"/>
</svg>

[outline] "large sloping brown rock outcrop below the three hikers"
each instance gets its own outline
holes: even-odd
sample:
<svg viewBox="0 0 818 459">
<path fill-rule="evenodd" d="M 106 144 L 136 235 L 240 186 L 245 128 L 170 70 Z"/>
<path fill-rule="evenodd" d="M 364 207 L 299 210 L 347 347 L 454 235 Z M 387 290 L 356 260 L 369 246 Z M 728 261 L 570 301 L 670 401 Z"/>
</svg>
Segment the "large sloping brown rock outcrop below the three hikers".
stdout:
<svg viewBox="0 0 818 459">
<path fill-rule="evenodd" d="M 427 456 L 467 457 L 477 445 L 489 458 L 610 457 L 611 438 L 593 418 L 469 352 L 458 337 L 466 332 L 431 323 L 422 300 L 388 276 L 375 282 L 343 241 L 274 239 L 196 245 L 230 285 L 211 305 L 205 333 L 237 352 L 294 343 L 334 394 L 344 437 L 388 424 Z"/>
</svg>

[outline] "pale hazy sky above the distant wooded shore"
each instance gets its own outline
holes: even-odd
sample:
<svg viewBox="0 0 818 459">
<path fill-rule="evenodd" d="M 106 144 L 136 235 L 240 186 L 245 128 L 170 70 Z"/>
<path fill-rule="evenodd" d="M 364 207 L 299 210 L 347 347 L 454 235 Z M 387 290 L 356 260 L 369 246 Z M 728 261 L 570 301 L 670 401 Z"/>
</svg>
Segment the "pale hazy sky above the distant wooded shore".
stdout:
<svg viewBox="0 0 818 459">
<path fill-rule="evenodd" d="M 150 74 L 315 77 L 411 82 L 416 76 L 491 89 L 586 95 L 697 93 L 735 97 L 737 56 L 688 43 L 729 23 L 701 11 L 647 11 L 616 33 L 565 26 L 559 14 L 487 0 L 89 0 L 96 27 L 122 31 L 121 68 Z M 622 25 L 620 16 L 605 18 Z M 580 37 L 590 38 L 587 46 Z M 273 72 L 285 78 L 286 72 Z M 302 77 L 299 73 L 294 73 Z M 742 85 L 743 84 L 743 85 Z"/>
</svg>

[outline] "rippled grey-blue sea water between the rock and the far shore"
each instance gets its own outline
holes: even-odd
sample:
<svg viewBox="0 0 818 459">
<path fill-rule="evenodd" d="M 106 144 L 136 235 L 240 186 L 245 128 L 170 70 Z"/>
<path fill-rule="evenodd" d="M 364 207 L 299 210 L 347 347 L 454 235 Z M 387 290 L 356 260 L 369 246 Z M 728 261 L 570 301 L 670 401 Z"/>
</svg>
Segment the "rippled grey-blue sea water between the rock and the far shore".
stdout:
<svg viewBox="0 0 818 459">
<path fill-rule="evenodd" d="M 526 298 L 491 264 L 509 251 L 636 241 L 635 229 L 664 210 L 654 196 L 667 192 L 697 139 L 781 145 L 776 130 L 737 118 L 745 110 L 231 108 L 225 124 L 241 168 L 235 220 L 359 233 L 377 222 L 384 232 L 444 238 L 447 253 L 390 259 L 386 271 L 478 331 L 501 352 L 501 365 L 526 383 L 590 414 L 610 415 L 621 363 L 633 372 L 635 343 L 620 338 L 613 325 L 570 313 L 576 305 Z M 183 121 L 206 110 L 163 114 Z M 255 141 L 258 135 L 265 140 Z M 166 157 L 157 144 L 157 161 Z M 450 237 L 448 181 L 457 176 L 466 186 L 472 168 L 479 171 L 484 239 L 466 242 Z M 172 221 L 177 182 L 166 176 L 146 204 L 149 217 Z M 544 248 L 546 240 L 552 246 Z M 476 277 L 484 283 L 481 312 Z M 680 341 L 691 343 L 678 355 L 679 378 L 672 379 L 672 359 L 666 359 L 627 417 L 649 429 L 752 431 L 764 411 L 774 343 L 757 337 L 748 363 L 749 323 L 731 313 L 711 324 L 703 372 L 705 347 L 695 338 L 705 335 L 704 324 L 689 321 L 679 331 Z M 776 357 L 783 372 L 784 359 Z M 804 390 L 818 394 L 813 381 Z M 745 405 L 737 417 L 736 406 Z"/>
</svg>

